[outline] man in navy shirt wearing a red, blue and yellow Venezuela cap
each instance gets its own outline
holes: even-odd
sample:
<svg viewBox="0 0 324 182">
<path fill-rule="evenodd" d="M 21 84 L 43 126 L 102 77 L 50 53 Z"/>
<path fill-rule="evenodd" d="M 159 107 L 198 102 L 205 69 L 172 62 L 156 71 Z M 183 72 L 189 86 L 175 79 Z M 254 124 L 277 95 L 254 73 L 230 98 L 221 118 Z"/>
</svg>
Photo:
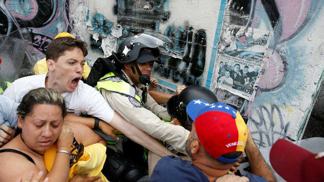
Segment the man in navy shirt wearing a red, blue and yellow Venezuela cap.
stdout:
<svg viewBox="0 0 324 182">
<path fill-rule="evenodd" d="M 166 156 L 156 164 L 151 181 L 215 181 L 229 172 L 244 150 L 252 169 L 246 177 L 250 181 L 275 181 L 237 110 L 196 99 L 186 111 L 192 121 L 186 143 L 191 161 Z"/>
</svg>

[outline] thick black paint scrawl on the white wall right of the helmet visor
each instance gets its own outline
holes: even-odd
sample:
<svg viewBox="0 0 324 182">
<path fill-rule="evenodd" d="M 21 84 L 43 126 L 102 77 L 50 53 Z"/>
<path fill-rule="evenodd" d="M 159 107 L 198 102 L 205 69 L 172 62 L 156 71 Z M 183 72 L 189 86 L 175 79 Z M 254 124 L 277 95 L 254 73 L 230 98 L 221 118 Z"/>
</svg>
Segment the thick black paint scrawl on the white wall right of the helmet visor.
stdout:
<svg viewBox="0 0 324 182">
<path fill-rule="evenodd" d="M 197 77 L 204 72 L 206 61 L 207 37 L 205 30 L 198 30 L 194 35 L 192 58 L 190 57 L 193 38 L 192 27 L 178 28 L 175 31 L 172 26 L 169 26 L 165 35 L 175 42 L 175 53 L 185 54 L 183 59 L 172 57 L 166 62 L 165 66 L 155 66 L 154 71 L 165 78 L 172 78 L 176 83 L 181 81 L 186 85 L 200 84 L 200 79 L 197 79 Z M 191 67 L 188 70 L 190 63 Z M 180 68 L 180 65 L 183 65 L 183 67 Z"/>
</svg>

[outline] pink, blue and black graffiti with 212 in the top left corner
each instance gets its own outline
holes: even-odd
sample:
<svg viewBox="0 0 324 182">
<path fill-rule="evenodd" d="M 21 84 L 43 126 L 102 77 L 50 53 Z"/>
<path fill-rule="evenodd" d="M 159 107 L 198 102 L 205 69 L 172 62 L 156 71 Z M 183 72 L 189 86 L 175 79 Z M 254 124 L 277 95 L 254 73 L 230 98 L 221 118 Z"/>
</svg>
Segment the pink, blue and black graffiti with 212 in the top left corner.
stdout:
<svg viewBox="0 0 324 182">
<path fill-rule="evenodd" d="M 24 38 L 22 28 L 31 34 L 36 59 L 44 58 L 52 39 L 60 32 L 70 32 L 69 0 L 0 1 L 0 33 Z"/>
</svg>

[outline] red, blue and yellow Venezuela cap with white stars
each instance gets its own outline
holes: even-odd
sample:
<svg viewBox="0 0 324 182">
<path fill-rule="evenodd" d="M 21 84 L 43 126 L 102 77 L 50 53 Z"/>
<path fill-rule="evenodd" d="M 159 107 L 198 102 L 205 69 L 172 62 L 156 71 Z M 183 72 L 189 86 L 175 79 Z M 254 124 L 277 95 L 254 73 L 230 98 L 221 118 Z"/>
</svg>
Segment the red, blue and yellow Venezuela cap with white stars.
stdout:
<svg viewBox="0 0 324 182">
<path fill-rule="evenodd" d="M 236 162 L 237 158 L 225 158 L 230 152 L 244 152 L 248 139 L 248 127 L 237 110 L 224 104 L 210 104 L 205 100 L 191 101 L 186 108 L 195 122 L 198 139 L 205 150 L 222 162 Z"/>
</svg>

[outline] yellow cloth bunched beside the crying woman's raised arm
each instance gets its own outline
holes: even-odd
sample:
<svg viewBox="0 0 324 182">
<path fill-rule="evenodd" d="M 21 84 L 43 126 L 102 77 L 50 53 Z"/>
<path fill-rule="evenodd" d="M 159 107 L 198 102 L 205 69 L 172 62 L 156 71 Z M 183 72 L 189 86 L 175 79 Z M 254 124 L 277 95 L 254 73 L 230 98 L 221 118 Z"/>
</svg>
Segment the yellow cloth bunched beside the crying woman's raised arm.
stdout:
<svg viewBox="0 0 324 182">
<path fill-rule="evenodd" d="M 96 143 L 85 147 L 84 154 L 77 163 L 70 167 L 69 179 L 71 179 L 74 174 L 89 173 L 90 176 L 100 175 L 101 178 L 99 180 L 108 181 L 101 172 L 106 157 L 106 147 L 102 144 Z"/>
</svg>

